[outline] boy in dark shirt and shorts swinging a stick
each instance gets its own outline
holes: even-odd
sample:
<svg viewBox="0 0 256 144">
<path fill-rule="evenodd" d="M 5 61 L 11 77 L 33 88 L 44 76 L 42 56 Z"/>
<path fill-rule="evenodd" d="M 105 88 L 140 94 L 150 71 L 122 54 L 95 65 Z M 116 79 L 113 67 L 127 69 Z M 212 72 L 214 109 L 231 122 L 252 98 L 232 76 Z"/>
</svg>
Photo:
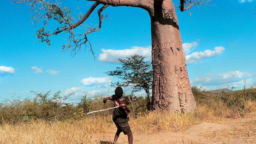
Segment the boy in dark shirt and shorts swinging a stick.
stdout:
<svg viewBox="0 0 256 144">
<path fill-rule="evenodd" d="M 112 95 L 103 99 L 103 103 L 106 103 L 107 100 L 111 100 L 114 102 L 114 106 L 119 106 L 119 108 L 116 108 L 113 111 L 113 121 L 117 127 L 114 144 L 116 144 L 116 141 L 121 132 L 124 132 L 125 135 L 128 135 L 129 144 L 132 144 L 132 141 L 133 141 L 132 131 L 128 124 L 129 112 L 131 112 L 131 110 L 128 108 L 128 106 L 125 103 L 123 93 L 124 92 L 122 87 L 118 86 L 115 89 L 115 95 Z"/>
</svg>

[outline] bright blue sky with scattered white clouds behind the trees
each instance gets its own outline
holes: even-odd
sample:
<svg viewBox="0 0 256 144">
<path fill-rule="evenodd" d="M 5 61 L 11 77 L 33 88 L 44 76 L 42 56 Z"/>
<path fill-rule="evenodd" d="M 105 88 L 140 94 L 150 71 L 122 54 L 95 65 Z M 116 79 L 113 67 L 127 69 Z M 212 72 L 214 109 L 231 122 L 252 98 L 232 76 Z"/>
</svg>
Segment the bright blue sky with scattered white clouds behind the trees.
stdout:
<svg viewBox="0 0 256 144">
<path fill-rule="evenodd" d="M 66 0 L 61 5 L 76 14 L 77 6 L 85 13 L 91 3 Z M 206 90 L 241 89 L 246 79 L 249 87 L 256 81 L 256 1 L 212 0 L 209 5 L 191 8 L 191 16 L 189 11 L 177 11 L 191 84 Z M 71 51 L 63 52 L 65 36 L 52 36 L 51 46 L 36 42 L 35 31 L 40 25 L 31 23 L 25 4 L 0 1 L 0 9 L 0 101 L 33 97 L 31 90 L 72 93 L 69 102 L 85 93 L 104 94 L 109 80 L 117 80 L 105 72 L 118 66 L 118 58 L 141 54 L 151 60 L 150 17 L 145 10 L 109 6 L 102 12 L 109 19 L 99 31 L 88 35 L 95 61 L 89 49 L 82 49 L 75 57 Z M 97 25 L 97 13 L 85 24 Z"/>
</svg>

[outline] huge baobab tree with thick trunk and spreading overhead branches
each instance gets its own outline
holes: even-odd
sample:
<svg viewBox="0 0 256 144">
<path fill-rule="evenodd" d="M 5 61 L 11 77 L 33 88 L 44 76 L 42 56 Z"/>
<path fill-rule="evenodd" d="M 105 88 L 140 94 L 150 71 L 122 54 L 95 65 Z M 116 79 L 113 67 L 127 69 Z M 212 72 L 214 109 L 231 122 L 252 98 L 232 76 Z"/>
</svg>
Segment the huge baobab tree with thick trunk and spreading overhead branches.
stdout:
<svg viewBox="0 0 256 144">
<path fill-rule="evenodd" d="M 63 49 L 72 49 L 74 54 L 80 50 L 81 45 L 88 45 L 92 50 L 87 34 L 95 32 L 101 28 L 102 20 L 107 15 L 101 12 L 108 6 L 131 6 L 140 7 L 147 10 L 151 18 L 152 37 L 152 107 L 159 111 L 168 109 L 173 112 L 193 112 L 196 109 L 196 102 L 189 83 L 185 53 L 182 48 L 179 23 L 175 6 L 172 0 L 87 0 L 95 1 L 90 9 L 83 15 L 78 16 L 76 21 L 71 15 L 71 10 L 61 7 L 58 0 L 13 0 L 16 3 L 28 3 L 34 13 L 35 23 L 43 20 L 47 25 L 48 20 L 57 20 L 59 26 L 53 31 L 42 27 L 36 35 L 42 42 L 50 45 L 49 36 L 60 33 L 68 33 L 68 43 L 63 45 Z M 204 5 L 209 0 L 177 0 L 180 11 L 185 11 L 192 6 Z M 99 25 L 97 28 L 84 25 L 86 19 L 96 9 L 98 10 Z M 75 29 L 84 28 L 87 31 L 77 34 Z"/>
</svg>

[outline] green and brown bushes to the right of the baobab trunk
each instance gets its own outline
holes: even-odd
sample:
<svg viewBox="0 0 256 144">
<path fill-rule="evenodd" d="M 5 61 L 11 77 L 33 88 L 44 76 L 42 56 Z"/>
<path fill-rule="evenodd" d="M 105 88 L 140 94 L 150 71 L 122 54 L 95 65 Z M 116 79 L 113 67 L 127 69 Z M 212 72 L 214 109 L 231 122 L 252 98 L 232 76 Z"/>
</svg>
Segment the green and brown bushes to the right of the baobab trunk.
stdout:
<svg viewBox="0 0 256 144">
<path fill-rule="evenodd" d="M 197 87 L 192 87 L 192 92 L 197 105 L 206 105 L 208 108 L 214 109 L 215 115 L 227 118 L 244 116 L 247 102 L 256 100 L 256 89 L 253 87 L 229 93 L 223 91 L 220 94 L 205 92 Z"/>
</svg>

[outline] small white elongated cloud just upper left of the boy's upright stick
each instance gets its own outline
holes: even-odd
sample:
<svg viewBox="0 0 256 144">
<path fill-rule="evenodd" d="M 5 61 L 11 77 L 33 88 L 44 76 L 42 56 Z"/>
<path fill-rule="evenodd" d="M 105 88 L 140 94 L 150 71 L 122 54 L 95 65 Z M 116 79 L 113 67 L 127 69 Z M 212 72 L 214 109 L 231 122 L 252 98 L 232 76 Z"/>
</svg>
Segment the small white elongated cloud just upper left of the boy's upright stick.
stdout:
<svg viewBox="0 0 256 144">
<path fill-rule="evenodd" d="M 109 77 L 89 77 L 86 79 L 81 80 L 81 84 L 83 85 L 93 85 L 93 84 L 102 84 L 102 83 L 108 83 L 109 82 Z"/>
</svg>

